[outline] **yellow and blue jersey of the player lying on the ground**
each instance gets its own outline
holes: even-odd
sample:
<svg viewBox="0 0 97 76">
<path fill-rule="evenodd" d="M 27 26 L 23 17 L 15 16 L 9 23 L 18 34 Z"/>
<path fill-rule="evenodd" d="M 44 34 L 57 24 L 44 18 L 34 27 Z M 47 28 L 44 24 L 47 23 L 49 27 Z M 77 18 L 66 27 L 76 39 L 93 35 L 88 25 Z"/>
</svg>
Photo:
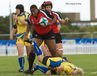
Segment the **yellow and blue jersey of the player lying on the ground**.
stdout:
<svg viewBox="0 0 97 76">
<path fill-rule="evenodd" d="M 66 75 L 70 75 L 71 72 L 77 69 L 77 67 L 73 65 L 67 57 L 49 57 L 46 66 L 55 71 L 57 71 L 58 67 L 64 66 L 64 71 L 62 71 L 62 73 Z"/>
</svg>

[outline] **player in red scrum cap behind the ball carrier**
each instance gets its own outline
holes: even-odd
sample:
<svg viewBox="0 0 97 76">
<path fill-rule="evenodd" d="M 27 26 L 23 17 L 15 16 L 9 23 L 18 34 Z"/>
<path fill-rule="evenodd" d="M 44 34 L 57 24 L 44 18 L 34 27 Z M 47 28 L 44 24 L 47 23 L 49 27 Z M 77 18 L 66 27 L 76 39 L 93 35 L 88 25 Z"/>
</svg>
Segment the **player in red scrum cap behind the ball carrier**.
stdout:
<svg viewBox="0 0 97 76">
<path fill-rule="evenodd" d="M 65 20 L 62 19 L 58 13 L 52 11 L 52 7 L 53 7 L 53 5 L 52 5 L 51 1 L 45 1 L 41 5 L 41 9 L 48 10 L 50 12 L 50 14 L 54 15 L 56 17 L 56 19 L 57 19 L 57 22 L 52 25 L 52 28 L 53 28 L 54 33 L 55 33 L 57 54 L 58 54 L 58 56 L 62 56 L 63 55 L 62 37 L 61 37 L 61 35 L 59 33 L 59 30 L 60 30 L 60 27 L 61 27 L 60 26 L 60 22 L 62 24 L 66 24 L 69 19 L 68 18 L 65 18 Z M 48 48 L 45 47 L 45 46 L 46 46 L 45 44 L 44 44 L 44 46 L 42 45 L 42 51 L 43 51 L 43 53 L 45 53 L 44 55 L 48 55 L 49 51 L 44 50 L 44 49 L 48 50 Z"/>
</svg>

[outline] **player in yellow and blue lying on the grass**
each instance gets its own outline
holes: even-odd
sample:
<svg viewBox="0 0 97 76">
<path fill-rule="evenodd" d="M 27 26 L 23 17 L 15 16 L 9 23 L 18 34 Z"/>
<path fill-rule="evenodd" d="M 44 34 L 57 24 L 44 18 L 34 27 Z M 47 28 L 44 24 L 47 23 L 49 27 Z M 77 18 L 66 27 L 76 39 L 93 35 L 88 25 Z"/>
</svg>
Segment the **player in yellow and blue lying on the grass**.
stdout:
<svg viewBox="0 0 97 76">
<path fill-rule="evenodd" d="M 43 72 L 44 74 L 65 74 L 65 75 L 82 75 L 84 72 L 70 62 L 67 57 L 50 57 L 43 56 L 42 50 L 34 42 L 35 53 L 40 63 L 46 67 L 35 65 L 34 67 Z"/>
</svg>

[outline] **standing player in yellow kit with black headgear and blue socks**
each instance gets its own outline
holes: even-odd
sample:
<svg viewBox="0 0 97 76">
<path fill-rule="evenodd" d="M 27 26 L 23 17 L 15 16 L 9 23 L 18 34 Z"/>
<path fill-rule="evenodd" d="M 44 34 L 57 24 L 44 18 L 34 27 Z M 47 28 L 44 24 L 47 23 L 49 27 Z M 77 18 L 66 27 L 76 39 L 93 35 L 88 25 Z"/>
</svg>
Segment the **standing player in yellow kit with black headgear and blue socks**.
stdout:
<svg viewBox="0 0 97 76">
<path fill-rule="evenodd" d="M 17 30 L 17 34 L 16 34 L 16 46 L 17 46 L 17 50 L 18 50 L 18 62 L 20 65 L 20 69 L 19 72 L 23 72 L 24 71 L 24 63 L 25 63 L 25 58 L 24 58 L 24 45 L 26 46 L 26 52 L 27 52 L 27 56 L 30 53 L 31 50 L 31 45 L 30 43 L 24 42 L 24 34 L 26 33 L 26 28 L 27 25 L 25 23 L 23 23 L 26 19 L 28 19 L 28 13 L 24 12 L 24 6 L 22 4 L 18 4 L 16 6 L 16 14 L 17 15 L 13 15 L 13 19 L 14 19 L 14 27 L 10 33 L 10 40 L 13 40 L 13 34 L 16 32 Z M 28 39 L 32 38 L 31 33 L 29 32 Z"/>
</svg>

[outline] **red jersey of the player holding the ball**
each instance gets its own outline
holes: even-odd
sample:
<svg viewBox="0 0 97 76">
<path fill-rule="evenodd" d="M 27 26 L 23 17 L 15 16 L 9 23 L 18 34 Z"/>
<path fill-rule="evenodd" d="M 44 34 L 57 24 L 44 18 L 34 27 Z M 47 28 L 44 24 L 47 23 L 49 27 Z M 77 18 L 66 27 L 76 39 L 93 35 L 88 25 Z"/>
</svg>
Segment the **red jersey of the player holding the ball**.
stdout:
<svg viewBox="0 0 97 76">
<path fill-rule="evenodd" d="M 37 18 L 34 17 L 34 16 L 32 16 L 32 15 L 30 15 L 29 21 L 30 21 L 31 24 L 33 24 L 34 30 L 35 30 L 37 33 L 43 35 L 43 34 L 47 34 L 48 32 L 50 32 L 50 30 L 52 29 L 52 27 L 51 27 L 51 26 L 46 26 L 46 27 L 41 26 L 41 25 L 39 24 L 39 21 L 40 21 L 41 17 L 47 18 L 47 19 L 48 19 L 48 22 L 51 22 L 51 21 L 52 21 L 52 18 L 50 18 L 50 17 L 46 14 L 46 12 L 44 12 L 44 11 L 42 11 L 42 10 L 39 11 Z"/>
</svg>

